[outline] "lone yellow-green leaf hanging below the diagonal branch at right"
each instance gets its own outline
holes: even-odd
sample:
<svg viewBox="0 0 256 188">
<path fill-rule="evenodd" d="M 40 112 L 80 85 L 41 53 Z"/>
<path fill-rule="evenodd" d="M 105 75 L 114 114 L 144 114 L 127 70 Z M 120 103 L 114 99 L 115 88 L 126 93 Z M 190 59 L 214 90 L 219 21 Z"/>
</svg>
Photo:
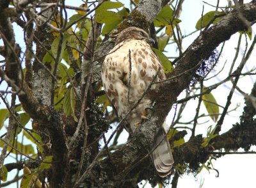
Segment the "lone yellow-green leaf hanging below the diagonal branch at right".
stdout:
<svg viewBox="0 0 256 188">
<path fill-rule="evenodd" d="M 203 91 L 206 91 L 207 88 L 204 88 Z M 219 106 L 217 105 L 216 99 L 212 95 L 212 93 L 207 93 L 202 96 L 204 106 L 207 110 L 207 112 L 211 115 L 211 118 L 214 122 L 218 120 L 219 116 Z"/>
</svg>

